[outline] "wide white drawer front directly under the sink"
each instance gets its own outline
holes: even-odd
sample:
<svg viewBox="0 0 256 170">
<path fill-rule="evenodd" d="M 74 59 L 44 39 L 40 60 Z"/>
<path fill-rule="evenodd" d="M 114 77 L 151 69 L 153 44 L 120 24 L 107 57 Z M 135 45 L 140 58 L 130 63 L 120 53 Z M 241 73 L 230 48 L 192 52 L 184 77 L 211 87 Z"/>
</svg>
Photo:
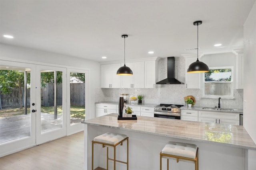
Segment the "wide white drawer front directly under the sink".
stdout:
<svg viewBox="0 0 256 170">
<path fill-rule="evenodd" d="M 198 117 L 240 120 L 239 113 L 223 113 L 223 112 L 215 112 L 215 111 L 198 111 Z"/>
</svg>

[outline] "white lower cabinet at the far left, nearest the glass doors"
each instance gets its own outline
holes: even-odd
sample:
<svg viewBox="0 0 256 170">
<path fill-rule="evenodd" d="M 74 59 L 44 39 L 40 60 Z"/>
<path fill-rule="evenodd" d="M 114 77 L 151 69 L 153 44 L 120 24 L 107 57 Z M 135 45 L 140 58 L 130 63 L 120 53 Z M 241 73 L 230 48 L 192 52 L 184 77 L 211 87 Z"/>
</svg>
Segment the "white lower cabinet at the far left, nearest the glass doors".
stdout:
<svg viewBox="0 0 256 170">
<path fill-rule="evenodd" d="M 96 104 L 96 117 L 107 115 L 110 113 L 118 113 L 116 105 L 112 104 Z"/>
</svg>

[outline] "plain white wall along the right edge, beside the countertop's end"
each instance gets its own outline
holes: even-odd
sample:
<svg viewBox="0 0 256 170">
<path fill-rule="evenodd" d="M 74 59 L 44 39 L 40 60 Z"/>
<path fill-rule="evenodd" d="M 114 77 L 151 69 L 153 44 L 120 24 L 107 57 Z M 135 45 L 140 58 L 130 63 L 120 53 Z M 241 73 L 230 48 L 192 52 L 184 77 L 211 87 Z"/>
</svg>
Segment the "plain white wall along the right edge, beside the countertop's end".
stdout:
<svg viewBox="0 0 256 170">
<path fill-rule="evenodd" d="M 256 143 L 256 2 L 244 23 L 244 128 Z M 256 150 L 248 150 L 246 170 L 256 169 Z"/>
</svg>

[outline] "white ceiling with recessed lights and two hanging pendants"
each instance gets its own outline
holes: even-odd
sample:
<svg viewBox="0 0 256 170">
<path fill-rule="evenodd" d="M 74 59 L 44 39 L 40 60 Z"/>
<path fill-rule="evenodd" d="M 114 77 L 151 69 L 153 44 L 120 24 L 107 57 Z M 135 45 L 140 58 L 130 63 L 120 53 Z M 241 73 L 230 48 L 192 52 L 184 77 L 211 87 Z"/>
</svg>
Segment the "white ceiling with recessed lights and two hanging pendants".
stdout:
<svg viewBox="0 0 256 170">
<path fill-rule="evenodd" d="M 1 43 L 93 61 L 180 57 L 243 48 L 255 0 L 1 0 Z M 13 35 L 6 39 L 2 35 Z M 214 44 L 221 43 L 221 47 Z M 154 51 L 154 54 L 148 54 Z M 107 59 L 102 59 L 106 56 Z"/>
</svg>

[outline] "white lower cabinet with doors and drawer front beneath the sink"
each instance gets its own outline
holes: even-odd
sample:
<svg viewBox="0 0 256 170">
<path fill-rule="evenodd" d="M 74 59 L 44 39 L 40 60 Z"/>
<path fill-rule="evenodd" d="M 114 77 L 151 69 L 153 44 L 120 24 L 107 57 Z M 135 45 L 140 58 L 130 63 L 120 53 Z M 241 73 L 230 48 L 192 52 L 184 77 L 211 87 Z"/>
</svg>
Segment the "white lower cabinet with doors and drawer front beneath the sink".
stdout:
<svg viewBox="0 0 256 170">
<path fill-rule="evenodd" d="M 223 113 L 214 111 L 198 111 L 198 121 L 230 125 L 240 124 L 239 113 Z"/>
</svg>

